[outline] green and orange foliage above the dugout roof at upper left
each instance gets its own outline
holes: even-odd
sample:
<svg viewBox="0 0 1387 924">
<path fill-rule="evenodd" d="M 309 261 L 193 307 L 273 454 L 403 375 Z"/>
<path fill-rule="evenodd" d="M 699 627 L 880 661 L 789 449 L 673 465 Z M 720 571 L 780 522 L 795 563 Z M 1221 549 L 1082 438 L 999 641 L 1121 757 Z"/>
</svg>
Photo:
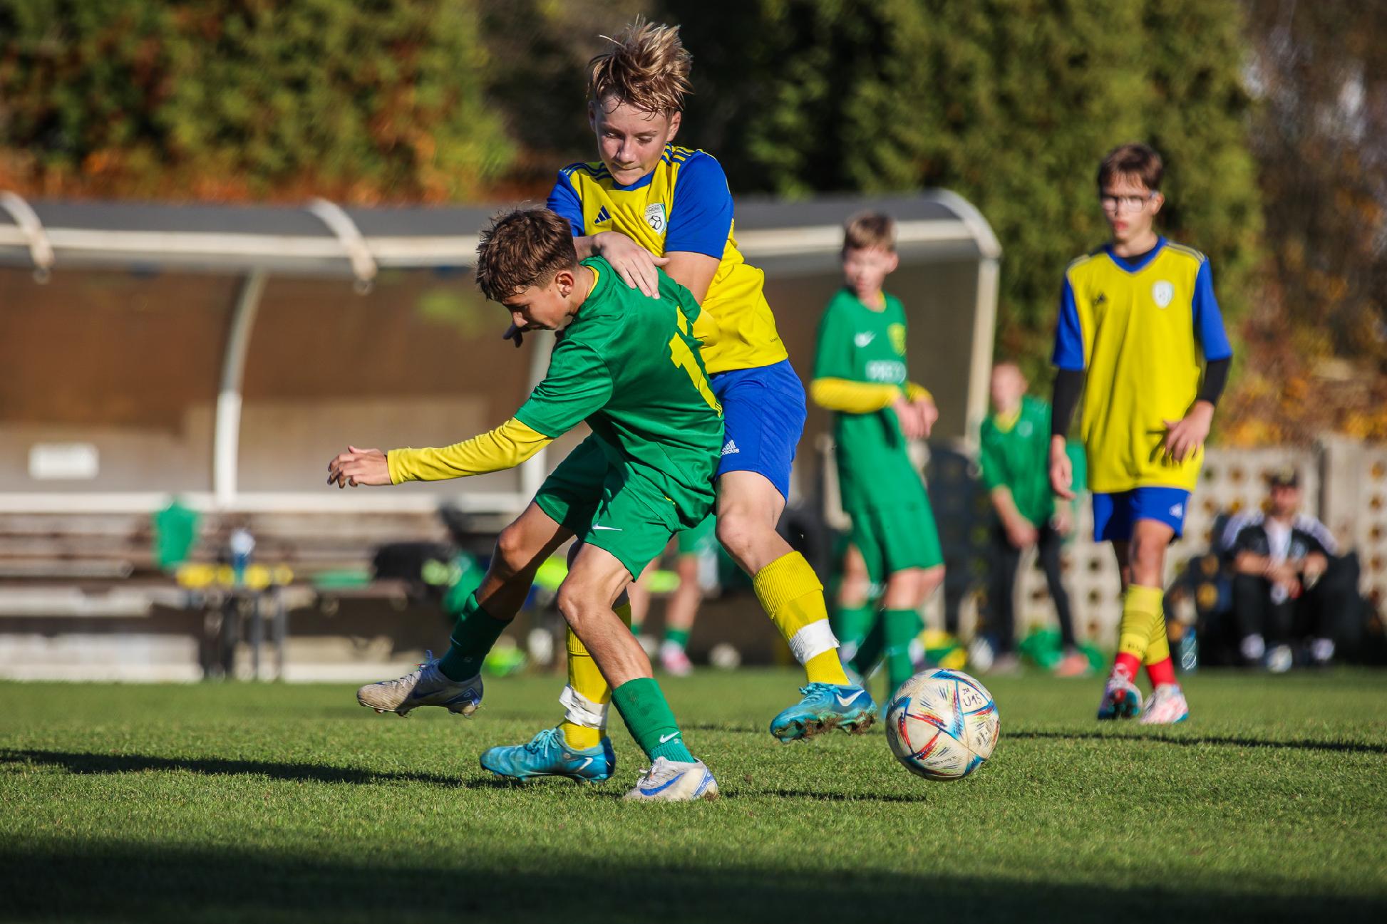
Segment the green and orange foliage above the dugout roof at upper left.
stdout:
<svg viewBox="0 0 1387 924">
<path fill-rule="evenodd" d="M 42 194 L 476 196 L 513 144 L 456 0 L 0 0 L 0 185 Z"/>
</svg>

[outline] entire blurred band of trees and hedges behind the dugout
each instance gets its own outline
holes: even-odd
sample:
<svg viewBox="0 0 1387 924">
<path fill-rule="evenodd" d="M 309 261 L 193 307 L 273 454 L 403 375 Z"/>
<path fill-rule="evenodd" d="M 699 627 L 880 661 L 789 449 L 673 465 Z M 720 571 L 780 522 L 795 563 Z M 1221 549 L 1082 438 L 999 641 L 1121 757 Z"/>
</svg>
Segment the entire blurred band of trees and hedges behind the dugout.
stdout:
<svg viewBox="0 0 1387 924">
<path fill-rule="evenodd" d="M 592 155 L 585 64 L 638 12 L 682 25 L 680 140 L 738 196 L 976 204 L 999 352 L 1037 380 L 1060 273 L 1107 236 L 1097 161 L 1150 142 L 1239 340 L 1225 437 L 1387 438 L 1383 0 L 0 0 L 0 187 L 542 198 Z"/>
</svg>

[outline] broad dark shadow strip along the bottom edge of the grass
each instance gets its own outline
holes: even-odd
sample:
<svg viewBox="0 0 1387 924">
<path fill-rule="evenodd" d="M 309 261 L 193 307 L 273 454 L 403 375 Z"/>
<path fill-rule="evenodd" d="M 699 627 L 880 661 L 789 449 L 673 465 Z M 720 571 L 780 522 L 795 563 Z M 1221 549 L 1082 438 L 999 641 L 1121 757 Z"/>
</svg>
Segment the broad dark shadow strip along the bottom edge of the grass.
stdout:
<svg viewBox="0 0 1387 924">
<path fill-rule="evenodd" d="M 669 819 L 666 819 L 669 823 Z M 481 845 L 477 845 L 479 848 Z M 1387 903 L 1338 895 L 1259 896 L 1182 884 L 1033 884 L 1003 874 L 929 870 L 856 874 L 752 867 L 725 855 L 691 855 L 680 867 L 632 867 L 571 850 L 513 846 L 345 863 L 301 853 L 96 844 L 0 848 L 4 917 L 90 921 L 506 920 L 613 924 L 659 921 L 950 920 L 1130 923 L 1179 920 L 1381 920 Z M 811 880 L 811 881 L 810 881 Z M 574 899 L 583 887 L 585 899 Z"/>
</svg>

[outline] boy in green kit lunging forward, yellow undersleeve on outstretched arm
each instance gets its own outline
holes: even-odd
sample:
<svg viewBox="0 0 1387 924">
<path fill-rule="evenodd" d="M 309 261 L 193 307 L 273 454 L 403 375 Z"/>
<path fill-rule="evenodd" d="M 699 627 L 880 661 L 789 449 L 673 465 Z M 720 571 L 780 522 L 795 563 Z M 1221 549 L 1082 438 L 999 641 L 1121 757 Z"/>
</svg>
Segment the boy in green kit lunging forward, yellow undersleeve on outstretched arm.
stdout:
<svg viewBox="0 0 1387 924">
<path fill-rule="evenodd" d="M 559 610 L 584 656 L 606 676 L 612 702 L 651 758 L 628 799 L 689 801 L 717 795 L 713 774 L 695 760 L 653 680 L 651 662 L 613 605 L 670 537 L 713 508 L 713 472 L 723 444 L 721 408 L 707 384 L 699 315 L 687 289 L 663 273 L 659 298 L 621 283 L 601 257 L 578 262 L 569 222 L 548 209 L 499 218 L 477 248 L 477 284 L 510 309 L 522 330 L 558 330 L 549 370 L 516 415 L 483 436 L 441 450 L 356 450 L 329 465 L 329 483 L 399 484 L 481 474 L 520 465 L 587 422 L 592 436 L 541 486 L 522 515 L 541 530 L 542 552 L 520 572 L 492 565 L 469 598 L 438 660 L 398 680 L 356 691 L 363 706 L 406 715 L 444 706 L 472 715 L 481 703 L 481 662 L 524 597 L 534 569 L 578 538 Z M 541 526 L 542 524 L 542 529 Z M 592 753 L 567 749 L 558 730 L 533 742 L 552 746 L 580 778 L 605 780 L 610 744 Z"/>
</svg>

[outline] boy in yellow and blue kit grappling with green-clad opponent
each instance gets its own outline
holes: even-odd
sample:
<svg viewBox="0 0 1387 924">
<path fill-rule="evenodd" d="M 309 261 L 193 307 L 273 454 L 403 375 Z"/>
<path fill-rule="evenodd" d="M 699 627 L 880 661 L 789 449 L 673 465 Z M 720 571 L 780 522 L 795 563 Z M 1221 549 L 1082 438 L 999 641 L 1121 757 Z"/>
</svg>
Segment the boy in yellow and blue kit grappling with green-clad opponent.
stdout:
<svg viewBox="0 0 1387 924">
<path fill-rule="evenodd" d="M 763 291 L 764 273 L 736 247 L 732 194 L 721 165 L 673 144 L 682 119 L 691 57 L 678 29 L 635 22 L 589 64 L 588 121 L 599 160 L 559 172 L 548 207 L 573 225 L 580 257 L 602 255 L 621 279 L 655 294 L 660 271 L 702 307 L 694 336 L 725 436 L 718 455 L 716 533 L 752 576 L 756 597 L 804 666 L 800 701 L 770 724 L 779 741 L 860 731 L 875 703 L 843 673 L 822 584 L 775 531 L 789 495 L 791 463 L 804 427 L 804 388 Z M 560 470 L 567 462 L 560 465 Z M 498 552 L 516 567 L 541 552 L 526 523 L 502 533 Z M 630 617 L 630 605 L 623 610 Z M 563 748 L 492 748 L 481 764 L 510 777 L 569 776 L 566 755 L 608 746 L 610 687 L 584 647 L 569 637 L 569 684 L 560 695 Z"/>
</svg>

